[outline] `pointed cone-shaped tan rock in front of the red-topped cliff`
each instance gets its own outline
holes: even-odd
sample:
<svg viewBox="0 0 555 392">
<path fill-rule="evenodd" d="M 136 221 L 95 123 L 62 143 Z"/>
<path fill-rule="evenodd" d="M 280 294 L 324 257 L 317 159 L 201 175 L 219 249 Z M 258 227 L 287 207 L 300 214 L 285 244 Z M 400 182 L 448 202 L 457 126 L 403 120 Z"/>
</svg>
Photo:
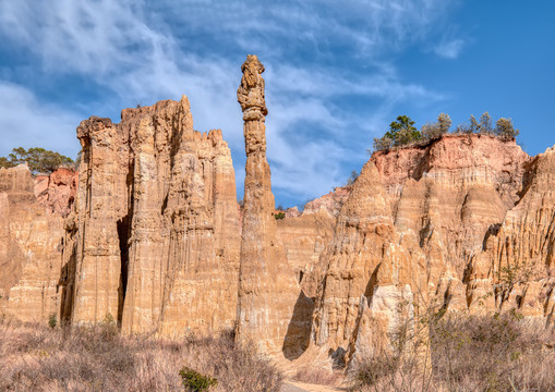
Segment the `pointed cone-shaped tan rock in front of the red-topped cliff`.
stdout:
<svg viewBox="0 0 555 392">
<path fill-rule="evenodd" d="M 401 303 L 413 311 L 413 293 L 426 283 L 424 255 L 415 238 L 397 233 L 373 162 L 364 166 L 342 206 L 321 262 L 328 268 L 316 304 L 313 340 L 325 352 L 330 350 L 336 362 L 345 362 L 349 350 L 363 345 L 364 338 L 358 336 L 367 332 L 364 308 L 377 320 L 381 330 L 375 333 L 384 334 L 406 318 L 399 313 Z"/>
</svg>

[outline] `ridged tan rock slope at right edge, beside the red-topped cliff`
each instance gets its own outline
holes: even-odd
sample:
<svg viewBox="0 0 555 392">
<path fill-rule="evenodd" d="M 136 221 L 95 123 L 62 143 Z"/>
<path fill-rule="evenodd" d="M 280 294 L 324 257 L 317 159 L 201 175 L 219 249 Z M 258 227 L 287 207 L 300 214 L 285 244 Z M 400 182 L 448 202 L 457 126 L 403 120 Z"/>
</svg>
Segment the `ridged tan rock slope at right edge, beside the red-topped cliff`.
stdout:
<svg viewBox="0 0 555 392">
<path fill-rule="evenodd" d="M 527 167 L 521 199 L 484 238 L 466 271 L 472 313 L 516 309 L 546 317 L 555 309 L 555 148 Z M 493 295 L 492 295 L 493 294 Z"/>
</svg>

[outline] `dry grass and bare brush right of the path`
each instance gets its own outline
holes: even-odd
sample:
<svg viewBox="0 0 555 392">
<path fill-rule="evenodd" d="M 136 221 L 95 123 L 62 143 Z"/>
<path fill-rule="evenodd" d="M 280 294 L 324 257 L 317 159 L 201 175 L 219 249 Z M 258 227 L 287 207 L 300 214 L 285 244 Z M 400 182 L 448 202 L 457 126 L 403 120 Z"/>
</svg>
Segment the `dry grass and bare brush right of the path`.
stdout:
<svg viewBox="0 0 555 392">
<path fill-rule="evenodd" d="M 355 391 L 555 391 L 555 332 L 515 315 L 444 317 L 430 339 L 365 359 Z M 424 355 L 422 347 L 425 346 Z M 420 347 L 420 348 L 419 348 Z M 430 363 L 427 369 L 423 364 Z"/>
</svg>

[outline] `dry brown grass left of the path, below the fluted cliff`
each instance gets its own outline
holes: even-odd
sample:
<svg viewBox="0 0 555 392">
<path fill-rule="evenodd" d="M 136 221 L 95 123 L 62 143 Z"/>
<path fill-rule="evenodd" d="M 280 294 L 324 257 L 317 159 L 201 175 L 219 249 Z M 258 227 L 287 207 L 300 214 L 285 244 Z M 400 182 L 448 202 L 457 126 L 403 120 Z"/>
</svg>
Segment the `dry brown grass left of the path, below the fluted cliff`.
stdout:
<svg viewBox="0 0 555 392">
<path fill-rule="evenodd" d="M 230 334 L 160 341 L 122 338 L 113 323 L 56 328 L 0 321 L 2 391 L 183 391 L 188 366 L 214 391 L 279 391 L 281 375 Z"/>
</svg>

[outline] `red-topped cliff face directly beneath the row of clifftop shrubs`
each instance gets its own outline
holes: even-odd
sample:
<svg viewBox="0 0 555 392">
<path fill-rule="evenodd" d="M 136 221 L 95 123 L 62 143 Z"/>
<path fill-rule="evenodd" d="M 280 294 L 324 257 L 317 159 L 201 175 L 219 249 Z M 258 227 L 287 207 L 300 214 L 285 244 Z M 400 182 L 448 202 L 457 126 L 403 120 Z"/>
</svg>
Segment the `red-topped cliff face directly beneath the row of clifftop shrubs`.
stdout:
<svg viewBox="0 0 555 392">
<path fill-rule="evenodd" d="M 415 235 L 429 259 L 431 293 L 458 287 L 484 235 L 518 200 L 529 159 L 516 143 L 487 135 L 445 135 L 426 146 L 376 152 L 395 226 Z M 453 293 L 451 293 L 453 294 Z"/>
</svg>

